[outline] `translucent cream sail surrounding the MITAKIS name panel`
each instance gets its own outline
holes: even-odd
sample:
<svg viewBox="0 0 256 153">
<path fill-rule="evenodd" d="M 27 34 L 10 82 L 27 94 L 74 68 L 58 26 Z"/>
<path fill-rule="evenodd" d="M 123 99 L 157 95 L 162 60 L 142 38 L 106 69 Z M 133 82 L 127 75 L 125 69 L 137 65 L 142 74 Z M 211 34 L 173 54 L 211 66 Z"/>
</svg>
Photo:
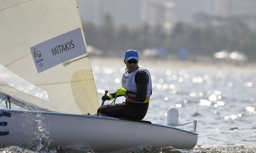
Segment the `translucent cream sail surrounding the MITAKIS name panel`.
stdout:
<svg viewBox="0 0 256 153">
<path fill-rule="evenodd" d="M 78 28 L 86 48 L 76 0 L 3 0 L 0 20 L 0 92 L 52 111 L 96 113 L 99 101 L 86 49 L 40 73 L 30 51 Z"/>
</svg>

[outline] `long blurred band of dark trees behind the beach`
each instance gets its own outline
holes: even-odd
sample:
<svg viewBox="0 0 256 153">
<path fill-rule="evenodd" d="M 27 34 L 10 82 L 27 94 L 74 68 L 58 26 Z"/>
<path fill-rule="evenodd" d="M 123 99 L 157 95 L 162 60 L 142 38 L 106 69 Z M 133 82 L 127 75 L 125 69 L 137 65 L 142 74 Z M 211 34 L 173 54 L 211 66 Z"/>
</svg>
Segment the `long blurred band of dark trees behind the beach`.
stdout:
<svg viewBox="0 0 256 153">
<path fill-rule="evenodd" d="M 251 19 L 251 18 L 250 18 Z M 115 28 L 110 15 L 105 15 L 100 26 L 83 23 L 85 39 L 88 45 L 109 53 L 123 55 L 127 49 L 142 51 L 146 48 L 167 48 L 176 54 L 180 48 L 187 48 L 193 55 L 212 56 L 222 49 L 238 50 L 253 61 L 256 57 L 256 32 L 251 30 L 244 19 L 221 18 L 207 14 L 195 15 L 196 25 L 178 22 L 167 33 L 162 25 L 128 28 L 122 25 Z M 118 53 L 118 54 L 116 54 Z"/>
</svg>

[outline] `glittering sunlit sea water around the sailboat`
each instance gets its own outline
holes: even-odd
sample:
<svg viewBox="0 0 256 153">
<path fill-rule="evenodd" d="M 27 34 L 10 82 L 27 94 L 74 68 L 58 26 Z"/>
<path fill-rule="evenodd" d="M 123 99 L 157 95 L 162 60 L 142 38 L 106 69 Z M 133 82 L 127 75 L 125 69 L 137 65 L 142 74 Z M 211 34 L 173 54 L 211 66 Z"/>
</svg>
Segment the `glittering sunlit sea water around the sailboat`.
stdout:
<svg viewBox="0 0 256 153">
<path fill-rule="evenodd" d="M 179 124 L 197 120 L 197 145 L 190 150 L 136 148 L 144 153 L 255 153 L 256 152 L 256 71 L 255 66 L 193 63 L 186 61 L 140 60 L 151 73 L 153 94 L 143 120 L 166 124 L 167 110 L 177 107 Z M 91 58 L 98 99 L 108 90 L 120 88 L 125 70 L 123 59 Z M 125 99 L 119 97 L 116 103 Z M 110 104 L 112 101 L 106 101 Z M 192 130 L 193 124 L 182 128 Z M 118 128 L 118 127 L 116 127 Z M 29 144 L 28 144 L 29 145 Z M 5 152 L 94 152 L 88 147 L 59 146 L 55 149 L 26 150 L 17 146 Z"/>
</svg>

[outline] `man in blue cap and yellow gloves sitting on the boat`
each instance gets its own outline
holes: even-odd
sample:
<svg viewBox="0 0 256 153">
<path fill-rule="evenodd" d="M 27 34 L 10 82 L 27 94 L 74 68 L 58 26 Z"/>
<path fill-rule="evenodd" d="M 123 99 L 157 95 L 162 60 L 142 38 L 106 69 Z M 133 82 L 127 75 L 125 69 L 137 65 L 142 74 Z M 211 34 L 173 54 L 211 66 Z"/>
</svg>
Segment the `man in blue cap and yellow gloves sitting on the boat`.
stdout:
<svg viewBox="0 0 256 153">
<path fill-rule="evenodd" d="M 131 120 L 142 120 L 148 110 L 149 97 L 152 94 L 152 82 L 149 71 L 138 65 L 139 55 L 136 50 L 127 50 L 123 62 L 126 70 L 122 78 L 122 87 L 117 92 L 101 97 L 102 101 L 125 96 L 121 104 L 103 105 L 97 113 L 108 117 L 124 117 Z"/>
</svg>

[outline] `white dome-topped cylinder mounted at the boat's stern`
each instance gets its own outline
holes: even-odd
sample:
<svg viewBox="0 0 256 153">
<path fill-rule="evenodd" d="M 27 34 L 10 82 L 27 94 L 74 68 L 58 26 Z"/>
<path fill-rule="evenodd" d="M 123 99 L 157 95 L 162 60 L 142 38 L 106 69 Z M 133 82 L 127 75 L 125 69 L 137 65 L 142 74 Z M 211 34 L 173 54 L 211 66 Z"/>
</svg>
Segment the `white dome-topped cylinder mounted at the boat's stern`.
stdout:
<svg viewBox="0 0 256 153">
<path fill-rule="evenodd" d="M 176 107 L 170 107 L 167 110 L 167 124 L 177 125 L 179 123 L 179 110 Z"/>
</svg>

